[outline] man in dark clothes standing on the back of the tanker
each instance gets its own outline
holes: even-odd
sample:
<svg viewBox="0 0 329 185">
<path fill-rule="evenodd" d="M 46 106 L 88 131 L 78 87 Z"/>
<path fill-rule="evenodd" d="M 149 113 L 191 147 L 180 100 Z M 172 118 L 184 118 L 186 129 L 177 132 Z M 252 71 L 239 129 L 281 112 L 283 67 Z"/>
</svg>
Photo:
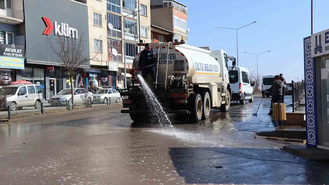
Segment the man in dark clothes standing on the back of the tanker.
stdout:
<svg viewBox="0 0 329 185">
<path fill-rule="evenodd" d="M 145 44 L 145 49 L 140 52 L 139 56 L 139 70 L 142 71 L 142 77 L 146 80 L 147 76 L 150 74 L 155 84 L 155 52 L 151 49 L 150 44 Z"/>
</svg>

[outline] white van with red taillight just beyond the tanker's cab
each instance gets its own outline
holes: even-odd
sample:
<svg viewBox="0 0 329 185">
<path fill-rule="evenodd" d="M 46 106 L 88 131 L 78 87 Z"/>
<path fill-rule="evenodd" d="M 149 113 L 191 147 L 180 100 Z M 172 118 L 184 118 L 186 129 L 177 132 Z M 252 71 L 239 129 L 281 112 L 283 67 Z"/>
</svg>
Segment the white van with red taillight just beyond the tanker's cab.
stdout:
<svg viewBox="0 0 329 185">
<path fill-rule="evenodd" d="M 255 81 L 250 81 L 249 70 L 241 66 L 229 66 L 229 80 L 232 88 L 231 101 L 240 101 L 243 105 L 246 100 L 254 101 Z"/>
</svg>

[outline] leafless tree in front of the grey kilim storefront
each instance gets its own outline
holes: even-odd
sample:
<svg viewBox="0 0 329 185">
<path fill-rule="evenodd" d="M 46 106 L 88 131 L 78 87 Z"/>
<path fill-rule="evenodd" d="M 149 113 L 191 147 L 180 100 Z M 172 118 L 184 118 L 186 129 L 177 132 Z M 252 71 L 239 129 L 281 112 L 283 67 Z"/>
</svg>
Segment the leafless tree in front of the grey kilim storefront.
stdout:
<svg viewBox="0 0 329 185">
<path fill-rule="evenodd" d="M 89 53 L 86 55 L 86 49 L 88 49 L 86 47 L 89 47 L 89 45 L 85 45 L 86 40 L 83 39 L 83 34 L 78 35 L 77 32 L 71 32 L 67 36 L 57 35 L 55 40 L 56 45 L 48 37 L 48 44 L 58 56 L 61 69 L 67 72 L 67 76 L 70 79 L 72 109 L 74 109 L 73 77 L 82 69 L 81 65 L 96 58 L 97 54 L 93 57 Z"/>
</svg>

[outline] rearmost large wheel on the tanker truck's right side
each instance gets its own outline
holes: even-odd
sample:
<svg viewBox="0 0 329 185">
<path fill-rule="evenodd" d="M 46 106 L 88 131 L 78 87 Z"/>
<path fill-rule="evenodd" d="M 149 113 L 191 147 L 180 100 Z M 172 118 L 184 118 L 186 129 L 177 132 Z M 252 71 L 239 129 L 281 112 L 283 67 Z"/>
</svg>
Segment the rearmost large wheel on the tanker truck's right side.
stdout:
<svg viewBox="0 0 329 185">
<path fill-rule="evenodd" d="M 189 98 L 190 102 L 190 118 L 192 123 L 200 123 L 202 119 L 202 112 L 203 112 L 203 106 L 202 106 L 202 99 L 200 94 L 193 94 Z"/>
</svg>

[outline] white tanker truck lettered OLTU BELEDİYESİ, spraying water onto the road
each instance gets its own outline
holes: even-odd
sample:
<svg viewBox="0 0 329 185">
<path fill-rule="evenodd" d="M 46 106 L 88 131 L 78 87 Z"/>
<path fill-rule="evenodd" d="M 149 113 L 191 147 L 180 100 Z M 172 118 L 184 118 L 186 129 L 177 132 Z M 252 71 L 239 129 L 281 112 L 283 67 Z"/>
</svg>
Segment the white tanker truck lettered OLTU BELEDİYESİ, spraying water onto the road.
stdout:
<svg viewBox="0 0 329 185">
<path fill-rule="evenodd" d="M 207 119 L 210 109 L 228 111 L 231 102 L 231 85 L 228 75 L 228 60 L 236 65 L 235 58 L 223 50 L 213 51 L 185 44 L 185 42 L 149 43 L 157 56 L 156 84 L 154 92 L 168 114 L 183 114 L 193 123 Z M 145 46 L 145 43 L 139 43 Z M 139 54 L 133 66 L 138 73 Z M 150 76 L 150 75 L 149 75 Z M 147 79 L 152 84 L 151 78 Z M 138 84 L 120 90 L 123 100 L 121 113 L 129 113 L 135 122 L 147 119 L 147 105 Z"/>
</svg>

